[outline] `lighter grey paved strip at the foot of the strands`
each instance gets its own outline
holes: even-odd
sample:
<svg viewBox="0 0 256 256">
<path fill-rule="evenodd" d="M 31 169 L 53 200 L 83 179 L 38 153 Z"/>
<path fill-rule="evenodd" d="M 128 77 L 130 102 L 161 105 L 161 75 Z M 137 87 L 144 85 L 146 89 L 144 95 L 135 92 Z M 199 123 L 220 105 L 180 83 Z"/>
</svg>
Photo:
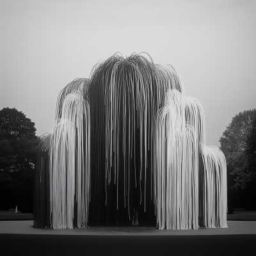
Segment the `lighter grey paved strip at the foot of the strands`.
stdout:
<svg viewBox="0 0 256 256">
<path fill-rule="evenodd" d="M 200 228 L 198 230 L 158 230 L 154 227 L 38 229 L 33 221 L 0 221 L 0 234 L 84 235 L 84 236 L 205 236 L 256 234 L 256 221 L 227 221 L 228 228 Z M 256 243 L 256 241 L 255 241 Z"/>
</svg>

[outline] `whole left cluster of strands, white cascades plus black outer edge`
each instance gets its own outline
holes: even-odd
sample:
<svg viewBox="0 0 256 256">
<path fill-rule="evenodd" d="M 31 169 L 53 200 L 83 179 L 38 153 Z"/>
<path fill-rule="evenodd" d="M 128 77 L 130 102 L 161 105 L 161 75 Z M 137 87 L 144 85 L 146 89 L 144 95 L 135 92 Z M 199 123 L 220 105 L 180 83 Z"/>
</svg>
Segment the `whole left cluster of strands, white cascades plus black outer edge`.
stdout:
<svg viewBox="0 0 256 256">
<path fill-rule="evenodd" d="M 51 134 L 38 148 L 35 227 L 86 228 L 90 202 L 90 108 L 88 79 L 59 94 Z"/>
</svg>

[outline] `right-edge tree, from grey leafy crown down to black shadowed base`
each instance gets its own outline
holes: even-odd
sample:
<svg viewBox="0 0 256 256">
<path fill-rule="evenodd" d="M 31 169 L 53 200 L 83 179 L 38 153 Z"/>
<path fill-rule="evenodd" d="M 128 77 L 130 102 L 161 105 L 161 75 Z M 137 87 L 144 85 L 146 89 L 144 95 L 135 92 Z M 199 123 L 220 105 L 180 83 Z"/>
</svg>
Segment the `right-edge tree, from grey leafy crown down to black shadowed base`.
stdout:
<svg viewBox="0 0 256 256">
<path fill-rule="evenodd" d="M 227 126 L 220 138 L 221 150 L 227 160 L 229 205 L 237 208 L 256 209 L 255 202 L 255 136 L 256 109 L 240 112 Z M 254 143 L 253 143 L 254 139 Z M 234 191 L 236 190 L 236 191 Z M 230 211 L 230 209 L 228 209 Z"/>
</svg>

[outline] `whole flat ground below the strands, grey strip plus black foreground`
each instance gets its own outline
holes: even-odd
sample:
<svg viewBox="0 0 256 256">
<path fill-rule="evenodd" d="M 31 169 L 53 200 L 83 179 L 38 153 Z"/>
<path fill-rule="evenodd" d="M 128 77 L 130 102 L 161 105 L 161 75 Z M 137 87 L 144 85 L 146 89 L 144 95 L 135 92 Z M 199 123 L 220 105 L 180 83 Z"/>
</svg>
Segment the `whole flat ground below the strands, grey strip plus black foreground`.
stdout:
<svg viewBox="0 0 256 256">
<path fill-rule="evenodd" d="M 0 212 L 0 244 L 5 255 L 256 255 L 256 212 L 238 212 L 243 221 L 228 228 L 157 230 L 154 227 L 52 230 L 33 228 L 33 220 L 13 220 Z M 6 214 L 9 215 L 6 220 Z M 248 214 L 251 215 L 248 218 Z M 236 214 L 232 214 L 236 215 Z M 4 217 L 5 216 L 5 217 Z M 15 218 L 30 215 L 15 214 Z M 2 218 L 1 218 L 2 217 Z M 4 218 L 5 220 L 3 220 Z M 33 215 L 32 215 L 33 217 Z M 238 216 L 240 219 L 241 217 Z"/>
</svg>

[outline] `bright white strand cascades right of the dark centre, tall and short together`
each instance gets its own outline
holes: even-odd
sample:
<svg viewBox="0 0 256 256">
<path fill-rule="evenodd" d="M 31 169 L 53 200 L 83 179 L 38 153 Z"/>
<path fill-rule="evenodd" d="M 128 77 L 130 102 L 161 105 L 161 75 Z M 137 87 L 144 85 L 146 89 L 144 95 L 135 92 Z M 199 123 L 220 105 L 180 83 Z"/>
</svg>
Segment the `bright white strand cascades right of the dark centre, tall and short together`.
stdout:
<svg viewBox="0 0 256 256">
<path fill-rule="evenodd" d="M 204 112 L 198 100 L 177 90 L 166 93 L 155 124 L 154 191 L 159 228 L 227 227 L 225 157 L 218 148 L 205 147 Z M 203 171 L 199 157 L 203 157 Z M 202 167 L 201 167 L 202 168 Z M 204 189 L 200 220 L 198 186 Z M 215 212 L 217 215 L 215 216 Z"/>
</svg>

